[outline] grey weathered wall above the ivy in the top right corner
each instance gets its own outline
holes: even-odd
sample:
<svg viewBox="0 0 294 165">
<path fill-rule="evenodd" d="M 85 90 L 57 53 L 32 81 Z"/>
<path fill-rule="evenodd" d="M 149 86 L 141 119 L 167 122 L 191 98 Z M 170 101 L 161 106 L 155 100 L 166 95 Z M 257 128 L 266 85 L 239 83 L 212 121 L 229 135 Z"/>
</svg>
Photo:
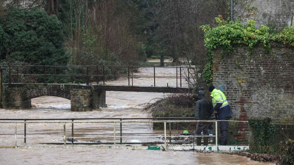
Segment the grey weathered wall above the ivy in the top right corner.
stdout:
<svg viewBox="0 0 294 165">
<path fill-rule="evenodd" d="M 273 23 L 281 30 L 284 27 L 289 27 L 291 22 L 293 24 L 294 16 L 294 1 L 293 0 L 239 0 L 234 3 L 234 18 L 239 15 L 247 15 L 249 12 L 244 11 L 244 5 L 251 3 L 251 7 L 257 8 L 255 14 L 247 17 L 244 22 L 247 23 L 248 19 L 256 21 L 256 26 L 266 25 L 268 22 Z M 241 10 L 242 9 L 242 10 Z"/>
</svg>

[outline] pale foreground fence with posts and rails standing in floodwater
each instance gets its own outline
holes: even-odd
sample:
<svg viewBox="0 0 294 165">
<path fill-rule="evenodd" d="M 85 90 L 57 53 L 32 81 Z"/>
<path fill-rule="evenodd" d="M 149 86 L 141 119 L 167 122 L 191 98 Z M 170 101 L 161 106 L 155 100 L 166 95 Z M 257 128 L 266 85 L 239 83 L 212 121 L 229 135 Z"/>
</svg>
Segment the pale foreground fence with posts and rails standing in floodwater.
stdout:
<svg viewBox="0 0 294 165">
<path fill-rule="evenodd" d="M 103 118 L 101 118 L 103 119 Z M 104 120 L 106 120 L 107 118 L 104 118 Z M 112 138 L 113 142 L 110 144 L 113 144 L 113 147 L 116 148 L 117 144 L 124 144 L 122 143 L 122 138 L 142 138 L 142 137 L 158 137 L 158 136 L 123 136 L 122 133 L 122 124 L 123 123 L 163 123 L 164 124 L 164 146 L 163 148 L 166 149 L 167 148 L 167 144 L 171 143 L 171 138 L 172 137 L 193 137 L 193 144 L 194 144 L 194 137 L 214 137 L 217 138 L 218 137 L 218 129 L 215 129 L 215 133 L 214 135 L 194 135 L 194 134 L 189 134 L 189 135 L 175 135 L 172 136 L 171 135 L 171 123 L 198 123 L 198 122 L 212 122 L 215 125 L 215 128 L 218 128 L 218 121 L 219 120 L 209 120 L 209 121 L 195 121 L 195 120 L 162 120 L 162 121 L 131 121 L 134 118 L 129 118 L 129 119 L 124 119 L 126 121 L 123 121 L 123 119 L 121 118 L 108 118 L 108 119 L 116 119 L 119 121 L 74 121 L 73 119 L 35 119 L 35 120 L 49 120 L 49 121 L 26 121 L 24 119 L 0 119 L 1 120 L 24 120 L 24 121 L 1 121 L 0 124 L 13 124 L 14 125 L 14 136 L 0 136 L 0 138 L 14 138 L 15 139 L 15 148 L 18 148 L 18 144 L 17 144 L 17 139 L 18 138 L 24 138 L 24 142 L 26 142 L 26 138 L 62 138 L 63 139 L 63 145 L 64 148 L 67 147 L 67 138 L 71 138 L 71 143 L 70 144 L 74 144 L 74 139 L 73 138 Z M 150 119 L 150 118 L 136 118 L 136 119 Z M 154 119 L 154 118 L 151 118 Z M 157 118 L 158 119 L 158 118 Z M 164 119 L 164 118 L 162 118 Z M 175 118 L 173 118 L 175 119 Z M 183 119 L 183 118 L 181 118 Z M 187 118 L 186 118 L 187 119 Z M 34 120 L 34 119 L 29 119 L 29 120 Z M 71 121 L 52 121 L 52 120 L 71 120 Z M 89 120 L 89 119 L 76 119 L 76 120 Z M 92 120 L 97 120 L 97 119 L 92 119 Z M 248 122 L 248 121 L 228 121 L 228 122 Z M 19 133 L 17 133 L 17 124 L 24 124 L 24 136 L 19 137 L 17 136 Z M 63 136 L 26 136 L 26 124 L 27 123 L 59 123 L 59 124 L 63 124 Z M 113 133 L 111 134 L 112 136 L 93 136 L 93 137 L 74 137 L 74 123 L 93 123 L 93 124 L 101 124 L 101 123 L 113 123 Z M 116 128 L 116 124 L 119 123 L 120 125 L 120 133 L 119 136 L 116 133 L 116 131 L 118 130 Z M 66 132 L 66 124 L 71 124 L 71 136 L 67 136 L 67 132 Z M 166 124 L 169 125 L 169 132 L 167 132 L 167 126 Z M 169 134 L 168 134 L 169 133 Z M 37 134 L 37 133 L 36 133 Z M 133 133 L 126 133 L 126 134 L 133 134 Z M 144 134 L 144 133 L 136 133 L 136 134 Z M 146 134 L 151 134 L 151 133 L 146 133 Z M 157 133 L 159 134 L 159 133 Z M 0 134 L 0 135 L 9 135 L 9 134 Z M 11 135 L 11 134 L 10 134 Z M 117 139 L 120 138 L 120 142 L 117 142 Z M 169 142 L 168 142 L 169 140 Z M 136 144 L 146 144 L 146 142 L 139 142 Z M 215 148 L 218 149 L 218 140 L 215 140 Z"/>
</svg>

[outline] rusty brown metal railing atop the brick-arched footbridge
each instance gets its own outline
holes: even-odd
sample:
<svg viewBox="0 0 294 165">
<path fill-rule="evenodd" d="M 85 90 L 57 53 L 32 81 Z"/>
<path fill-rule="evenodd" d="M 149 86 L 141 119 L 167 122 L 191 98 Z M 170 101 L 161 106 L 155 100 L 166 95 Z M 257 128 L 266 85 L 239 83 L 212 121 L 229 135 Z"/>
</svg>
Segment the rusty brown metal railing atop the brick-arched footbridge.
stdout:
<svg viewBox="0 0 294 165">
<path fill-rule="evenodd" d="M 6 68 L 5 74 L 3 76 L 8 76 L 8 83 L 18 83 L 19 78 L 21 76 L 33 76 L 42 77 L 39 82 L 47 83 L 49 77 L 53 77 L 51 79 L 52 83 L 58 83 L 57 77 L 80 77 L 85 78 L 86 84 L 89 85 L 89 82 L 92 82 L 93 78 L 96 80 L 102 80 L 103 84 L 105 84 L 106 78 L 118 78 L 124 77 L 128 78 L 128 85 L 133 86 L 134 78 L 153 78 L 154 79 L 154 87 L 156 85 L 156 78 L 174 78 L 176 79 L 176 87 L 178 87 L 178 79 L 179 85 L 182 87 L 182 79 L 186 79 L 188 85 L 190 84 L 190 79 L 192 78 L 192 74 L 197 74 L 201 67 L 186 67 L 186 66 L 114 66 L 114 65 L 88 65 L 88 66 L 4 66 Z M 121 70 L 125 70 L 120 74 L 109 74 L 111 69 L 120 68 Z M 134 70 L 137 68 L 153 68 L 153 75 L 134 75 Z M 156 75 L 156 68 L 174 68 L 176 71 L 175 76 L 161 76 Z M 69 70 L 68 70 L 69 69 Z M 75 73 L 64 73 L 70 72 L 72 69 L 77 69 L 77 71 L 73 71 Z M 58 73 L 59 72 L 59 73 Z M 68 83 L 68 82 L 67 82 Z M 167 83 L 168 86 L 168 83 Z"/>
</svg>

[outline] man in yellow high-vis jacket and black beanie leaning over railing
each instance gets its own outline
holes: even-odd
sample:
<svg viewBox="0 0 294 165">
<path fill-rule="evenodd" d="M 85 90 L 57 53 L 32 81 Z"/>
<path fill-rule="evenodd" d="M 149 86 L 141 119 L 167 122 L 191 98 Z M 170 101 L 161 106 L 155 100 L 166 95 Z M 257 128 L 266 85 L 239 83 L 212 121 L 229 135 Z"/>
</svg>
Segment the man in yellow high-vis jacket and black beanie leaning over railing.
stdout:
<svg viewBox="0 0 294 165">
<path fill-rule="evenodd" d="M 228 117 L 233 114 L 229 103 L 227 102 L 226 96 L 222 91 L 215 89 L 214 86 L 208 88 L 210 96 L 212 97 L 212 105 L 214 107 L 214 114 L 216 120 L 224 120 L 219 122 L 221 137 L 219 144 L 221 146 L 227 145 L 227 134 L 228 134 Z"/>
</svg>

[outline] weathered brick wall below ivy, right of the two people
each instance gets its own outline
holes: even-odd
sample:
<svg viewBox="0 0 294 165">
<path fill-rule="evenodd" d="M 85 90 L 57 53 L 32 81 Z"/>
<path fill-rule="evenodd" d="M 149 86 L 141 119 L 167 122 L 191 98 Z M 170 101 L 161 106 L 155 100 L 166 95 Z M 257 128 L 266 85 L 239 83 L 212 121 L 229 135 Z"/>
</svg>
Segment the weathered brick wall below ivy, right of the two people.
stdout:
<svg viewBox="0 0 294 165">
<path fill-rule="evenodd" d="M 294 116 L 294 49 L 276 44 L 270 53 L 247 47 L 213 59 L 213 84 L 224 92 L 233 110 L 233 120 L 269 117 L 276 125 L 293 123 Z M 230 124 L 230 141 L 247 143 L 249 126 Z M 250 135 L 251 136 L 251 135 Z"/>
</svg>

